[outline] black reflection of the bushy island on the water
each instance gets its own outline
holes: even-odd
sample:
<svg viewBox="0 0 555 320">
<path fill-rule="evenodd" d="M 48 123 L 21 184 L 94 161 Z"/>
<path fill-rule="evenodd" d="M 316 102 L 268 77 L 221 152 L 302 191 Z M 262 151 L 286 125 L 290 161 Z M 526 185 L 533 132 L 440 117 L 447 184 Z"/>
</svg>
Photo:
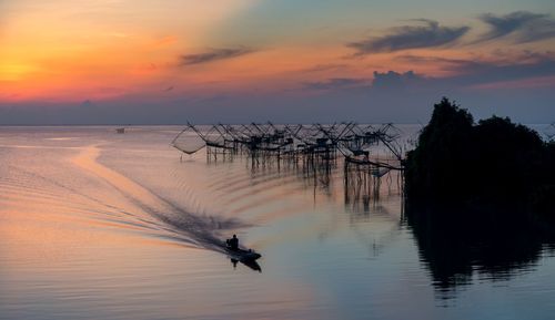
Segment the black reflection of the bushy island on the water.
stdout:
<svg viewBox="0 0 555 320">
<path fill-rule="evenodd" d="M 406 211 L 405 220 L 441 298 L 472 283 L 474 275 L 504 280 L 534 268 L 545 245 L 555 242 L 554 233 L 516 216 L 523 217 L 455 208 Z"/>
</svg>

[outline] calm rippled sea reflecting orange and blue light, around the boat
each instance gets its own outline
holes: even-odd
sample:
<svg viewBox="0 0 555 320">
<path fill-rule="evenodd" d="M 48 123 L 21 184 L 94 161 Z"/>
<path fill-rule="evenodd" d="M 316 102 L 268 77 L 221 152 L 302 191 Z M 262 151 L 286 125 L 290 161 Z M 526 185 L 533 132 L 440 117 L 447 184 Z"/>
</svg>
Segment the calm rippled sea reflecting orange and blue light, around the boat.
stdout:
<svg viewBox="0 0 555 320">
<path fill-rule="evenodd" d="M 553 319 L 551 244 L 484 256 L 407 223 L 395 176 L 180 158 L 180 130 L 0 127 L 0 319 Z"/>
</svg>

